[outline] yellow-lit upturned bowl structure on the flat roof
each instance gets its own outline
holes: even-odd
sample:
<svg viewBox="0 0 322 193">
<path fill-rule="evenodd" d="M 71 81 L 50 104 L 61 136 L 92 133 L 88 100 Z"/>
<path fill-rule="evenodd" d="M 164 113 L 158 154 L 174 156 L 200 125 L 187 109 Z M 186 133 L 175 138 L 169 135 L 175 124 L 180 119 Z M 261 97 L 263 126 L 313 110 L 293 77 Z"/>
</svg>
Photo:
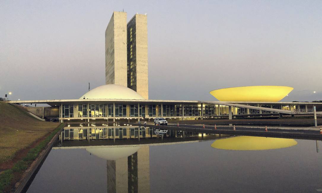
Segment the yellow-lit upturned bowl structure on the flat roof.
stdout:
<svg viewBox="0 0 322 193">
<path fill-rule="evenodd" d="M 285 86 L 249 86 L 223 88 L 209 93 L 219 101 L 278 102 L 293 90 Z"/>
</svg>

